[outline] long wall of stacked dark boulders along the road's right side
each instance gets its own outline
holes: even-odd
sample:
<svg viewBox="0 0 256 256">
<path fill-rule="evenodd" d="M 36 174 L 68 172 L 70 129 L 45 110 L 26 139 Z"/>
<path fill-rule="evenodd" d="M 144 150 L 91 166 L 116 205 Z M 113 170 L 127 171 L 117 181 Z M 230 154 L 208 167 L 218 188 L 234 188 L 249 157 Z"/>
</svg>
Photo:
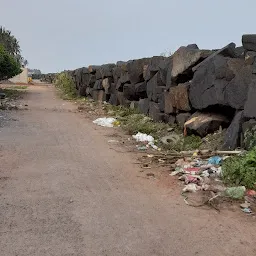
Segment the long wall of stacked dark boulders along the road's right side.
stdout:
<svg viewBox="0 0 256 256">
<path fill-rule="evenodd" d="M 256 35 L 219 50 L 195 44 L 172 56 L 154 56 L 68 71 L 81 96 L 136 107 L 155 121 L 177 123 L 204 137 L 228 128 L 223 148 L 241 146 L 246 124 L 256 118 Z"/>
</svg>

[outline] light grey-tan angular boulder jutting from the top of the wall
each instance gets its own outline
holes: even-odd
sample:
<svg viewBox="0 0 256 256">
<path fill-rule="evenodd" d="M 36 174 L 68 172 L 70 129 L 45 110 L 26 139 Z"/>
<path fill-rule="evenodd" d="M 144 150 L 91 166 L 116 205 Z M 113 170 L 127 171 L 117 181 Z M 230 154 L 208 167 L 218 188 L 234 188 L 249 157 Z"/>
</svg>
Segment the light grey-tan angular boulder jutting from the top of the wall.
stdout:
<svg viewBox="0 0 256 256">
<path fill-rule="evenodd" d="M 180 47 L 172 55 L 171 79 L 176 81 L 181 75 L 190 77 L 191 73 L 193 74 L 192 68 L 209 57 L 211 53 L 212 51 L 209 50 L 198 50 L 184 46 Z"/>
</svg>

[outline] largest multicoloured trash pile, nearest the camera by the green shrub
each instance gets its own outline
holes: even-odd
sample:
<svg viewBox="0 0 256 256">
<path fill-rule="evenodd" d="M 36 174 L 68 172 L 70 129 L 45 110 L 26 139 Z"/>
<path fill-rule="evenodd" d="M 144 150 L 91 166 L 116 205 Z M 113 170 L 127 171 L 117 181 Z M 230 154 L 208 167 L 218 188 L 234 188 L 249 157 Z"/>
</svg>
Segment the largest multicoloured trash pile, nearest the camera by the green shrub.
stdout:
<svg viewBox="0 0 256 256">
<path fill-rule="evenodd" d="M 179 180 L 184 183 L 182 195 L 186 204 L 196 207 L 206 204 L 213 206 L 214 201 L 218 204 L 218 199 L 245 199 L 245 203 L 240 205 L 242 211 L 247 214 L 256 212 L 256 191 L 246 191 L 244 186 L 225 187 L 221 181 L 221 164 L 228 157 L 216 155 L 202 159 L 197 157 L 195 152 L 193 157 L 184 157 L 175 162 L 175 170 L 170 175 L 179 176 Z M 201 193 L 210 192 L 208 193 L 209 197 L 200 205 L 190 203 L 188 194 L 199 191 Z M 218 208 L 214 208 L 218 210 Z"/>
</svg>

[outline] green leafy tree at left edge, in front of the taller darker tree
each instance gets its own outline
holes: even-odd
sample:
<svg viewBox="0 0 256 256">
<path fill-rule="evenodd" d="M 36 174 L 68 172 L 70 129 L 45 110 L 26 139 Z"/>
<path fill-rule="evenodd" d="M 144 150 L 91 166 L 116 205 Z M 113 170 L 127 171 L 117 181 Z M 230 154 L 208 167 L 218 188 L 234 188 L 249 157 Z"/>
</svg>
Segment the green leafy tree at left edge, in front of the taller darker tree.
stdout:
<svg viewBox="0 0 256 256">
<path fill-rule="evenodd" d="M 0 81 L 21 73 L 20 63 L 0 45 Z"/>
</svg>

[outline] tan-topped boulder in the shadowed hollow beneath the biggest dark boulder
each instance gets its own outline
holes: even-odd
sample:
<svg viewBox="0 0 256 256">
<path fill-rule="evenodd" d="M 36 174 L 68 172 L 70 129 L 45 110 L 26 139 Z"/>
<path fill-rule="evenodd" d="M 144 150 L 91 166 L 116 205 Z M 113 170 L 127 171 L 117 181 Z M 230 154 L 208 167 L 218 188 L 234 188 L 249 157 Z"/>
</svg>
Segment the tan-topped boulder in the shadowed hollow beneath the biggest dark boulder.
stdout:
<svg viewBox="0 0 256 256">
<path fill-rule="evenodd" d="M 215 113 L 196 112 L 184 124 L 187 134 L 196 134 L 205 137 L 208 133 L 213 133 L 219 127 L 227 127 L 229 119 L 226 116 Z"/>
</svg>

